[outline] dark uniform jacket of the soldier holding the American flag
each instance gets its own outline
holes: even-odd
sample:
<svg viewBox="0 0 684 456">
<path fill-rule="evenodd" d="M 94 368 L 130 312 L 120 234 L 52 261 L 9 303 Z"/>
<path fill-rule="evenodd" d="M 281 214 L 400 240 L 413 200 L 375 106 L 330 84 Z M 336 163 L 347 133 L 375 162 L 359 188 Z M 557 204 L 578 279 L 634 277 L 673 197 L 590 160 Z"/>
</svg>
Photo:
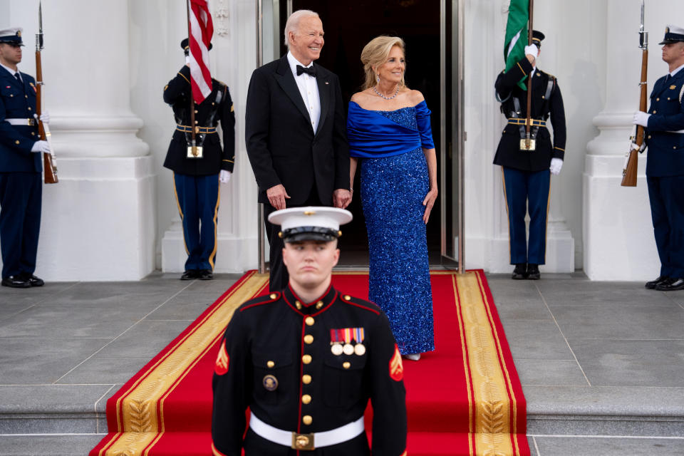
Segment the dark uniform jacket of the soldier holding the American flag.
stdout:
<svg viewBox="0 0 684 456">
<path fill-rule="evenodd" d="M 164 101 L 173 108 L 177 123 L 164 166 L 185 175 L 212 175 L 220 170 L 232 172 L 235 162 L 235 113 L 228 87 L 212 79 L 212 93 L 199 105 L 193 103 L 196 125 L 214 129 L 214 133 L 196 136 L 196 144 L 203 147 L 202 158 L 187 158 L 190 133 L 183 130 L 188 130 L 190 126 L 190 96 L 190 68 L 183 66 L 164 88 Z M 223 147 L 215 130 L 219 122 L 223 132 Z M 200 140 L 202 137 L 203 141 Z"/>
</svg>

